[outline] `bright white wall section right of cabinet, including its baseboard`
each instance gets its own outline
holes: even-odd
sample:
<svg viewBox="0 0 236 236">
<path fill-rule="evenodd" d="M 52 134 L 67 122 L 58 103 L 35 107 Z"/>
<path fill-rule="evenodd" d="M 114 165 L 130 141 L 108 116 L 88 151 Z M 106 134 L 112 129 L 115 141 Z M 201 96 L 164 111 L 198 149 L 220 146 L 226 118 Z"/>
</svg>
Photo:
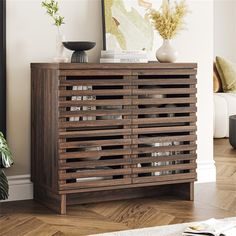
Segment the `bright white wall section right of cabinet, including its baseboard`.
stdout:
<svg viewBox="0 0 236 236">
<path fill-rule="evenodd" d="M 181 61 L 198 63 L 198 179 L 200 182 L 207 182 L 215 180 L 212 138 L 213 1 L 187 2 L 191 10 L 186 20 L 187 31 L 176 39 L 176 48 L 181 52 Z"/>
</svg>

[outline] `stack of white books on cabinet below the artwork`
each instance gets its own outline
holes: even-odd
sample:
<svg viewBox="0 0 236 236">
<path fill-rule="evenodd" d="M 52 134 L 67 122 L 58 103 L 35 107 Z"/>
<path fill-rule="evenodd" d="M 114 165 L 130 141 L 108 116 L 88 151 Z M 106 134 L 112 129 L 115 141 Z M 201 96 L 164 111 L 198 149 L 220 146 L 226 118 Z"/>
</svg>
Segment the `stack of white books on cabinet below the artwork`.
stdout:
<svg viewBox="0 0 236 236">
<path fill-rule="evenodd" d="M 100 63 L 147 63 L 146 51 L 101 51 Z"/>
</svg>

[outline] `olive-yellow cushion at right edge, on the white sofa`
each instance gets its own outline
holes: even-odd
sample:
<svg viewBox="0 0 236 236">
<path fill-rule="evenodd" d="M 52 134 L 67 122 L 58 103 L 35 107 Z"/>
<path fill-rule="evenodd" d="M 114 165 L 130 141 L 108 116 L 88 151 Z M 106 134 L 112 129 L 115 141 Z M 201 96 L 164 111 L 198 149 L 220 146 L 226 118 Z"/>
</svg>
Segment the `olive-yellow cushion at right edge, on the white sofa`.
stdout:
<svg viewBox="0 0 236 236">
<path fill-rule="evenodd" d="M 216 67 L 220 74 L 223 91 L 236 93 L 236 64 L 222 57 L 216 57 Z"/>
</svg>

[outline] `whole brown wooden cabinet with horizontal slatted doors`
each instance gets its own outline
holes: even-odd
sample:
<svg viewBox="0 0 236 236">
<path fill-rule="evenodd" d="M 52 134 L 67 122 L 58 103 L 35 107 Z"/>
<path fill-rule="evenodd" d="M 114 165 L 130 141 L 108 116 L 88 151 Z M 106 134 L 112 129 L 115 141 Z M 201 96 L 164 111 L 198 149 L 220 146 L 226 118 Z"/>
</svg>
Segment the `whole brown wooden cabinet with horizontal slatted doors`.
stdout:
<svg viewBox="0 0 236 236">
<path fill-rule="evenodd" d="M 196 64 L 31 64 L 34 198 L 193 200 Z"/>
</svg>

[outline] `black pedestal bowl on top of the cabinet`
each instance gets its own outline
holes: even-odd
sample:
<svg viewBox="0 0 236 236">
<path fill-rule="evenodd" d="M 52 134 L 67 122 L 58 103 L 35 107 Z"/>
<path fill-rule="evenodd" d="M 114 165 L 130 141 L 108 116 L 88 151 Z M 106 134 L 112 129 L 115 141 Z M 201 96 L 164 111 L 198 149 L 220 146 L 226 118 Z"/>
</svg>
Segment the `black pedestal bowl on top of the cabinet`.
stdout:
<svg viewBox="0 0 236 236">
<path fill-rule="evenodd" d="M 85 51 L 88 51 L 95 47 L 95 42 L 89 41 L 67 41 L 63 42 L 65 48 L 74 51 L 71 56 L 72 63 L 87 63 L 88 55 Z"/>
</svg>

